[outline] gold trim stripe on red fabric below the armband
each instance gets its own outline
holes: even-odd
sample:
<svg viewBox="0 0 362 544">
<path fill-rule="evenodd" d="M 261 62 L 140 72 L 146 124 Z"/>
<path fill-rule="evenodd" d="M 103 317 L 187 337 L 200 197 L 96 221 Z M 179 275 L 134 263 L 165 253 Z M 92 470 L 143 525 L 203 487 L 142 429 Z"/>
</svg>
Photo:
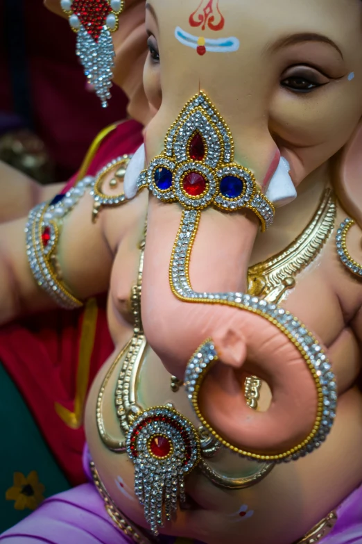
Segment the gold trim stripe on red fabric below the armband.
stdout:
<svg viewBox="0 0 362 544">
<path fill-rule="evenodd" d="M 97 318 L 98 306 L 96 299 L 89 299 L 85 304 L 82 331 L 80 333 L 74 411 L 68 410 L 59 402 L 54 404 L 55 412 L 58 413 L 65 425 L 71 429 L 79 429 L 83 425 L 85 397 L 87 396 L 90 361 L 96 338 Z"/>
</svg>

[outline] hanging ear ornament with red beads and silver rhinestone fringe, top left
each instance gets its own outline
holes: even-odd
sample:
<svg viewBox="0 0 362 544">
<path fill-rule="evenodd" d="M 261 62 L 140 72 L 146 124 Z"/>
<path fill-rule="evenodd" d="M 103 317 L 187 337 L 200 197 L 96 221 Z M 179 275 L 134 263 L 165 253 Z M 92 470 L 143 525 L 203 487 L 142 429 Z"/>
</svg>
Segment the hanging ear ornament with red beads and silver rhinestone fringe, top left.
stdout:
<svg viewBox="0 0 362 544">
<path fill-rule="evenodd" d="M 118 18 L 125 0 L 61 0 L 71 28 L 78 34 L 76 53 L 88 83 L 107 107 L 112 86 L 114 48 L 111 33 L 118 28 Z"/>
</svg>

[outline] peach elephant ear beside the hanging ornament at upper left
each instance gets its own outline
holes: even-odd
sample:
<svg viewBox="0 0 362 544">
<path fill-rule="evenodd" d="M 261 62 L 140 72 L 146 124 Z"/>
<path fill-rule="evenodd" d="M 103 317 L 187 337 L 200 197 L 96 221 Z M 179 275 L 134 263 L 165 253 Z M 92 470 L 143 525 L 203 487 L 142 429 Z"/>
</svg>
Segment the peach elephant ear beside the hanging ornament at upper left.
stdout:
<svg viewBox="0 0 362 544">
<path fill-rule="evenodd" d="M 126 93 L 128 113 L 146 125 L 153 110 L 144 92 L 143 72 L 148 53 L 145 29 L 146 0 L 126 0 L 126 8 L 119 17 L 119 29 L 114 33 L 113 81 Z"/>
</svg>

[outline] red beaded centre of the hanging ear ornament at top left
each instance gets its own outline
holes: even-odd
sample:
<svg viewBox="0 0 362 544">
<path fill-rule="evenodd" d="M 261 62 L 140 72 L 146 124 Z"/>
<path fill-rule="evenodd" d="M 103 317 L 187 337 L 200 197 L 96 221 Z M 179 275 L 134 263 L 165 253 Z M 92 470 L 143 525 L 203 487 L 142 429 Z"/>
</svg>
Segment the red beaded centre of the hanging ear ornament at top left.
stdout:
<svg viewBox="0 0 362 544">
<path fill-rule="evenodd" d="M 87 33 L 98 42 L 105 19 L 112 11 L 107 0 L 73 0 L 71 10 L 78 15 Z"/>
</svg>

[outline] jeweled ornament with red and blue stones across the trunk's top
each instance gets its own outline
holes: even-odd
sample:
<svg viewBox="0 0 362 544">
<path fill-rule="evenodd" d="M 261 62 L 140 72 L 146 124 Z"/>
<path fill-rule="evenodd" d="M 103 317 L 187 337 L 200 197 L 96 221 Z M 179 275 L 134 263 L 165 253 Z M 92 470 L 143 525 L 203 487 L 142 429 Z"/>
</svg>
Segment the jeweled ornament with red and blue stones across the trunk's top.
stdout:
<svg viewBox="0 0 362 544">
<path fill-rule="evenodd" d="M 273 223 L 273 204 L 254 174 L 234 162 L 230 129 L 202 91 L 184 106 L 166 135 L 164 151 L 141 172 L 138 186 L 188 210 L 249 208 L 259 217 L 263 231 Z"/>
</svg>

